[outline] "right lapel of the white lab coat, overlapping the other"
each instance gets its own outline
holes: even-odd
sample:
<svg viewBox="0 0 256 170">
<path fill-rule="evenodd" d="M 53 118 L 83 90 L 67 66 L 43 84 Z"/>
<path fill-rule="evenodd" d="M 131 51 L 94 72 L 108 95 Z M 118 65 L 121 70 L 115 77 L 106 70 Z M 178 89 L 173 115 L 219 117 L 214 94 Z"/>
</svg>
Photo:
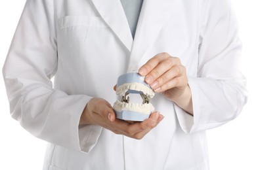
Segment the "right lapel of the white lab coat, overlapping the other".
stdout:
<svg viewBox="0 0 256 170">
<path fill-rule="evenodd" d="M 138 71 L 140 59 L 143 58 L 148 48 L 156 41 L 161 27 L 163 27 L 163 24 L 171 16 L 171 12 L 175 6 L 174 1 L 144 0 L 127 72 Z"/>
</svg>

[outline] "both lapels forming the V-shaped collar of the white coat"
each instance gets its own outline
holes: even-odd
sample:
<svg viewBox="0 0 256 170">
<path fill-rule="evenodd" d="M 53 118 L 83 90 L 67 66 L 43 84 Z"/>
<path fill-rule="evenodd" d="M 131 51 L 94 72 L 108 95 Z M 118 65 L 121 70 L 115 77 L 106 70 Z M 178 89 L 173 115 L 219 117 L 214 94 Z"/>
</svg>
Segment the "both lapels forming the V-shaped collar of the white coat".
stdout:
<svg viewBox="0 0 256 170">
<path fill-rule="evenodd" d="M 120 0 L 91 1 L 106 24 L 111 27 L 119 40 L 131 52 L 128 72 L 134 72 L 138 71 L 140 59 L 154 43 L 161 27 L 171 16 L 175 6 L 173 2 L 176 0 L 144 0 L 134 41 Z"/>
</svg>

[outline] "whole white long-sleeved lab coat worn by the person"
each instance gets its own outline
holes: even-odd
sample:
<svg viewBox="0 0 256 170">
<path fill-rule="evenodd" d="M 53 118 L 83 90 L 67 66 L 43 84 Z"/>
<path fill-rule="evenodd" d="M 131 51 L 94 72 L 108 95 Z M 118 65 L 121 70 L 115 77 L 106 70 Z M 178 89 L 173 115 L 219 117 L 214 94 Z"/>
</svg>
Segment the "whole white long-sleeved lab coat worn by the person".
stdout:
<svg viewBox="0 0 256 170">
<path fill-rule="evenodd" d="M 237 34 L 227 0 L 144 0 L 134 41 L 119 0 L 28 0 L 3 67 L 11 115 L 51 143 L 44 169 L 209 169 L 205 129 L 246 101 Z M 165 118 L 142 140 L 78 127 L 91 97 L 113 104 L 117 77 L 160 52 L 186 67 L 194 117 L 157 94 Z"/>
</svg>

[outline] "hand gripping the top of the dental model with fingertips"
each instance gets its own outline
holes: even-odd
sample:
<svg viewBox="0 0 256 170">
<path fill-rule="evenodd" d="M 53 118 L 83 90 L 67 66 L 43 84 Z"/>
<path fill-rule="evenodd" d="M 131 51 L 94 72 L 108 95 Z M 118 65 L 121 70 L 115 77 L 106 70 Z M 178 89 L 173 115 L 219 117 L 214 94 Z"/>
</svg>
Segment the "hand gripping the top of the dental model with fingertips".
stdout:
<svg viewBox="0 0 256 170">
<path fill-rule="evenodd" d="M 157 93 L 163 93 L 167 99 L 193 114 L 192 96 L 188 86 L 186 68 L 179 58 L 167 53 L 160 53 L 142 65 L 139 73 L 145 77 L 146 83 Z"/>
</svg>

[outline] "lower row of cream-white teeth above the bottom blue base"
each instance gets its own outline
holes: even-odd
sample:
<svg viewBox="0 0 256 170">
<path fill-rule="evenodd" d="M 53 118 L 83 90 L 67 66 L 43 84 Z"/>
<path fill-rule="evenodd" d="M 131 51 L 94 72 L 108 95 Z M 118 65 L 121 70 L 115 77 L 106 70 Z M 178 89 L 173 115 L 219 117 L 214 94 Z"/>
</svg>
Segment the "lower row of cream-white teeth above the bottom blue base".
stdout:
<svg viewBox="0 0 256 170">
<path fill-rule="evenodd" d="M 113 107 L 118 112 L 121 112 L 121 110 L 130 110 L 130 111 L 140 112 L 142 114 L 150 114 L 155 110 L 154 106 L 151 103 L 139 104 L 139 103 L 125 103 L 121 101 L 116 101 Z"/>
</svg>

